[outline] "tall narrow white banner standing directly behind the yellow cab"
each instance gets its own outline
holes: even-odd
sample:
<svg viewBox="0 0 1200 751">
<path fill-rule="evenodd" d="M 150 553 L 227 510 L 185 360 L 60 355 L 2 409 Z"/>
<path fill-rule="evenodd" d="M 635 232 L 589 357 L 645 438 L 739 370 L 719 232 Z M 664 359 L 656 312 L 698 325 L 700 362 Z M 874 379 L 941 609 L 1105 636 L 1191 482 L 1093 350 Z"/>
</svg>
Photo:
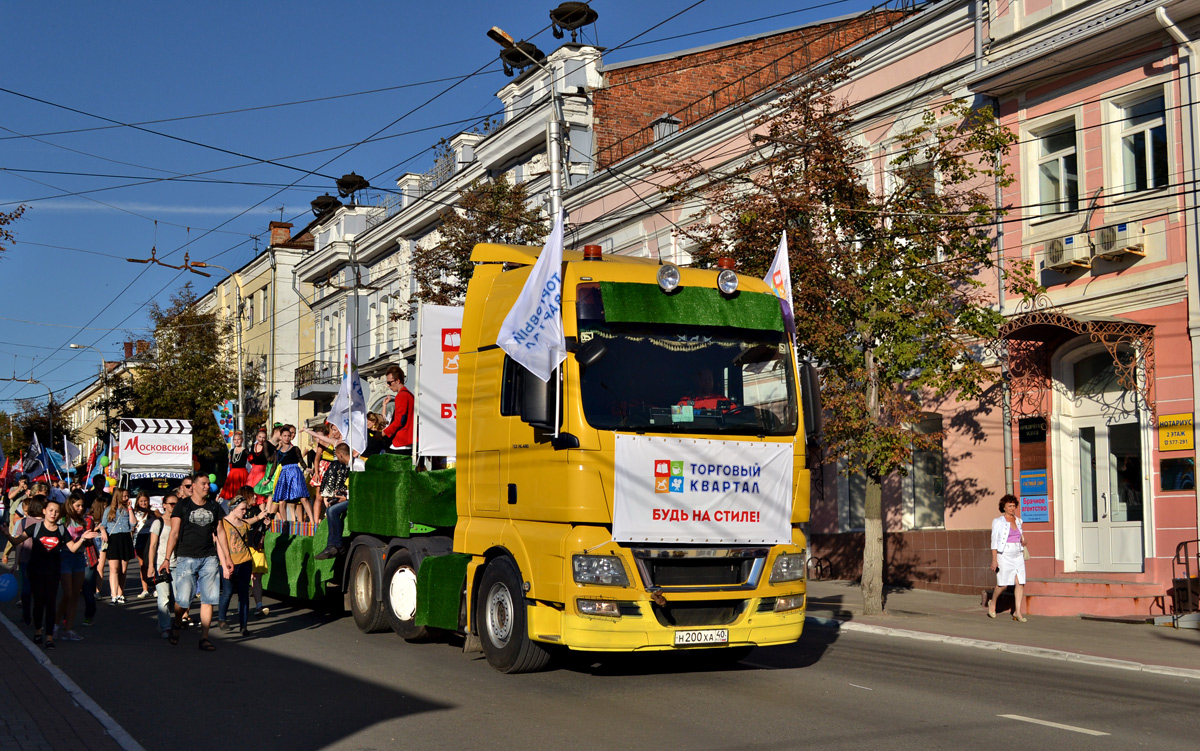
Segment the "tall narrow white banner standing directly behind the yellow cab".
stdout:
<svg viewBox="0 0 1200 751">
<path fill-rule="evenodd" d="M 462 308 L 422 305 L 418 331 L 416 451 L 419 456 L 454 456 Z"/>
</svg>

